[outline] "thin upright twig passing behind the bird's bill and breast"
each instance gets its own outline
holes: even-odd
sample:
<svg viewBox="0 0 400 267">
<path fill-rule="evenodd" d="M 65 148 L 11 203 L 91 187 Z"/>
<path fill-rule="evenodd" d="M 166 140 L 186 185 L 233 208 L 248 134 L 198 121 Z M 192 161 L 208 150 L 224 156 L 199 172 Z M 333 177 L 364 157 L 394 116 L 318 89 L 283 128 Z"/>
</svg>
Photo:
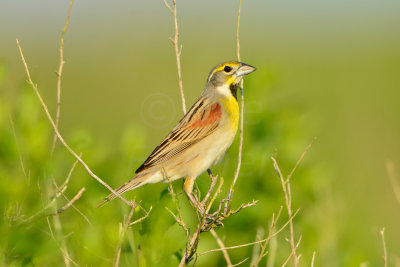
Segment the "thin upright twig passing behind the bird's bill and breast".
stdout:
<svg viewBox="0 0 400 267">
<path fill-rule="evenodd" d="M 240 61 L 240 42 L 239 42 L 239 28 L 240 28 L 240 10 L 242 7 L 242 0 L 239 0 L 239 7 L 238 7 L 238 16 L 237 16 L 237 24 L 236 24 L 236 54 L 237 59 Z M 234 193 L 234 186 L 236 181 L 239 177 L 240 168 L 242 166 L 242 150 L 243 150 L 243 117 L 244 117 L 244 95 L 243 95 L 243 80 L 240 82 L 240 92 L 241 92 L 241 99 L 240 99 L 240 140 L 239 140 L 239 152 L 238 152 L 238 164 L 236 167 L 235 175 L 233 178 L 232 185 L 229 189 L 228 193 L 228 201 L 225 203 L 225 213 L 231 208 L 231 202 Z"/>
</svg>

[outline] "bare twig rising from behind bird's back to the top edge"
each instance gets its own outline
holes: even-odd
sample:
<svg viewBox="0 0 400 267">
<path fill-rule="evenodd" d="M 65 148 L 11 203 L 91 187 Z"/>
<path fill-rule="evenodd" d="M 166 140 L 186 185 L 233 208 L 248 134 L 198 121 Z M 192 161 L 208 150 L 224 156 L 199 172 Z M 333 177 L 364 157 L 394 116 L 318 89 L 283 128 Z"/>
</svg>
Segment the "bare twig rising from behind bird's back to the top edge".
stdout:
<svg viewBox="0 0 400 267">
<path fill-rule="evenodd" d="M 179 30 L 178 30 L 178 16 L 176 12 L 176 0 L 172 0 L 172 7 L 167 3 L 167 0 L 164 0 L 164 4 L 174 17 L 175 34 L 174 34 L 174 39 L 171 38 L 170 40 L 175 49 L 176 67 L 178 69 L 179 91 L 181 93 L 181 100 L 182 100 L 182 110 L 183 113 L 186 114 L 186 101 L 185 101 L 185 94 L 183 91 L 182 71 L 181 71 L 182 46 L 179 46 Z"/>
</svg>

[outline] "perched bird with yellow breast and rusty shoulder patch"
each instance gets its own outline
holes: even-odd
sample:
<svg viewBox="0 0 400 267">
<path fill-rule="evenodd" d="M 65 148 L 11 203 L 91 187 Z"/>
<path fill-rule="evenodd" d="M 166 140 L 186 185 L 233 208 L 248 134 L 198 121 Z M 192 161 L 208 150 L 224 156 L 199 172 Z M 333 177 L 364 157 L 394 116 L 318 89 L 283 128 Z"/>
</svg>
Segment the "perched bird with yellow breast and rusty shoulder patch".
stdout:
<svg viewBox="0 0 400 267">
<path fill-rule="evenodd" d="M 184 191 L 195 203 L 191 194 L 194 181 L 217 164 L 231 146 L 239 121 L 239 82 L 255 70 L 235 61 L 215 66 L 200 98 L 136 170 L 136 175 L 115 191 L 122 194 L 145 184 L 186 177 Z M 111 193 L 99 206 L 115 197 Z"/>
</svg>

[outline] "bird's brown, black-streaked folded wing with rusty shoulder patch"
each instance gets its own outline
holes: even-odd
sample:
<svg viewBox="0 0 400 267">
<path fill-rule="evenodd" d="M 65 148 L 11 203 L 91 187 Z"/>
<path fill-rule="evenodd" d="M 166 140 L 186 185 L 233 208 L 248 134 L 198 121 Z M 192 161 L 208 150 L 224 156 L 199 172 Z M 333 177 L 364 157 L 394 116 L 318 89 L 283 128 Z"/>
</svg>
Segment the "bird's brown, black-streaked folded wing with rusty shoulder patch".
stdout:
<svg viewBox="0 0 400 267">
<path fill-rule="evenodd" d="M 210 103 L 203 97 L 197 100 L 178 125 L 136 170 L 136 173 L 178 156 L 213 133 L 218 127 L 221 116 L 222 110 L 218 103 Z"/>
</svg>

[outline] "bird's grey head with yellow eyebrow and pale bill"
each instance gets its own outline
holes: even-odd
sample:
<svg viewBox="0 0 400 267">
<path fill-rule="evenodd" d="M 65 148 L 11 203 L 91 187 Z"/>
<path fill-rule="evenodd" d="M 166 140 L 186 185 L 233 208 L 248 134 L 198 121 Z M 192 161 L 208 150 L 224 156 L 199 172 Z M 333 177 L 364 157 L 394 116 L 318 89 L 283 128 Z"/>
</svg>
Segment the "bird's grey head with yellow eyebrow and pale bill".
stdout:
<svg viewBox="0 0 400 267">
<path fill-rule="evenodd" d="M 214 90 L 212 93 L 233 95 L 236 98 L 239 82 L 245 75 L 255 70 L 256 68 L 237 61 L 218 64 L 208 75 L 206 91 L 212 92 Z"/>
</svg>

